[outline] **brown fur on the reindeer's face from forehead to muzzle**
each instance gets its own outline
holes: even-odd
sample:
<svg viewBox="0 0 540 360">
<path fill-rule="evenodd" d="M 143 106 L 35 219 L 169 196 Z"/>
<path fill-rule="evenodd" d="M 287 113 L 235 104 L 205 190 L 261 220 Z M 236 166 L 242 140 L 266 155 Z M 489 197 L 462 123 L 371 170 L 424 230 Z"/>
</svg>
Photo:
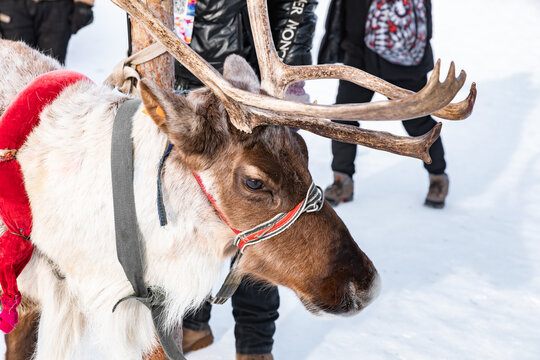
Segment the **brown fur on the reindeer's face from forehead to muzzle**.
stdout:
<svg viewBox="0 0 540 360">
<path fill-rule="evenodd" d="M 241 166 L 232 183 L 225 177 L 220 181 L 221 191 L 228 194 L 222 207 L 239 229 L 291 210 L 303 200 L 312 181 L 307 156 L 301 151 L 305 143 L 299 135 L 284 128 L 266 128 L 254 136 L 236 162 L 260 169 L 267 189 L 255 194 L 247 190 Z M 245 214 L 249 214 L 249 221 Z M 303 300 L 337 313 L 350 310 L 352 305 L 343 284 L 361 279 L 357 286 L 368 288 L 375 275 L 371 261 L 327 204 L 319 213 L 302 215 L 283 234 L 249 247 L 241 269 L 287 286 Z"/>
</svg>

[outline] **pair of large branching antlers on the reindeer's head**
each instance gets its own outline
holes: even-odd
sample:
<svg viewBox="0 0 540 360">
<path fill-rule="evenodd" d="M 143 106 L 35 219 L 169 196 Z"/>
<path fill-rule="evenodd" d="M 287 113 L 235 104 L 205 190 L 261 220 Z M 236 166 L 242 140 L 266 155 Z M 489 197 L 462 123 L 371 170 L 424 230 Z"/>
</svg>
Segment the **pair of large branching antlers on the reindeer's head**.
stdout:
<svg viewBox="0 0 540 360">
<path fill-rule="evenodd" d="M 287 125 L 304 129 L 331 139 L 355 143 L 392 153 L 416 157 L 430 162 L 429 147 L 440 133 L 440 125 L 424 136 L 399 137 L 386 132 L 358 129 L 324 119 L 336 120 L 405 120 L 434 113 L 455 97 L 465 82 L 465 72 L 455 77 L 452 63 L 447 79 L 439 82 L 440 62 L 437 62 L 428 84 L 418 93 L 410 92 L 342 65 L 287 66 L 277 57 L 270 34 L 266 0 L 247 0 L 250 22 L 259 67 L 261 88 L 269 95 L 254 94 L 238 89 L 226 81 L 212 66 L 165 27 L 139 0 L 112 0 L 143 24 L 167 50 L 210 88 L 223 103 L 230 121 L 240 130 L 251 132 L 260 125 Z M 314 105 L 279 99 L 286 87 L 298 80 L 338 78 L 381 92 L 397 100 L 368 104 Z M 449 110 L 439 111 L 442 117 L 465 118 L 474 105 L 473 87 L 468 98 L 450 104 Z"/>
</svg>

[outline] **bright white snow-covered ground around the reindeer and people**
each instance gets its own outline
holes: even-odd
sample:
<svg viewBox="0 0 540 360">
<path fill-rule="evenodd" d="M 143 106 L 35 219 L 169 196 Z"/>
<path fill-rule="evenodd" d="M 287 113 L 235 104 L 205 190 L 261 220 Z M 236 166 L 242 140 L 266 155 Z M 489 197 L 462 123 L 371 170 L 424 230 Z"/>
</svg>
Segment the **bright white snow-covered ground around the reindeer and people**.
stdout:
<svg viewBox="0 0 540 360">
<path fill-rule="evenodd" d="M 540 3 L 433 2 L 436 56 L 467 71 L 465 87 L 478 85 L 473 115 L 444 122 L 447 206 L 422 206 L 419 161 L 359 148 L 355 201 L 337 211 L 378 268 L 381 295 L 357 316 L 323 319 L 281 288 L 276 359 L 540 359 Z M 125 55 L 125 17 L 104 0 L 95 10 L 67 66 L 101 81 Z M 319 103 L 336 87 L 308 84 Z M 400 123 L 363 126 L 404 134 Z M 330 141 L 304 135 L 324 187 Z M 214 307 L 211 326 L 215 344 L 189 360 L 234 358 L 229 304 Z"/>
</svg>

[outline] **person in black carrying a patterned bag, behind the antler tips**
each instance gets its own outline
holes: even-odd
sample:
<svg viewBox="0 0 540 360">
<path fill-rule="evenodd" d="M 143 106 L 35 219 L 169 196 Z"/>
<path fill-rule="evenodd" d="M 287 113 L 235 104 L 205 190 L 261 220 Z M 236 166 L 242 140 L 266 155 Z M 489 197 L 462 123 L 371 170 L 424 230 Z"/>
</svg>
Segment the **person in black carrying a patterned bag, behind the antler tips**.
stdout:
<svg viewBox="0 0 540 360">
<path fill-rule="evenodd" d="M 427 83 L 427 73 L 433 70 L 434 66 L 433 51 L 430 45 L 432 36 L 431 1 L 415 0 L 412 2 L 413 6 L 420 1 L 423 1 L 420 5 L 425 10 L 426 37 L 423 56 L 420 53 L 418 63 L 403 65 L 391 62 L 366 45 L 366 21 L 370 6 L 373 2 L 377 2 L 374 5 L 379 7 L 388 5 L 377 0 L 332 0 L 326 19 L 326 34 L 319 50 L 318 63 L 342 62 L 345 65 L 367 71 L 399 87 L 420 91 Z M 336 103 L 363 103 L 371 101 L 372 97 L 373 91 L 347 81 L 340 81 Z M 358 122 L 336 122 L 359 126 Z M 403 121 L 405 130 L 410 136 L 423 135 L 431 130 L 435 124 L 436 121 L 429 115 Z M 424 163 L 430 180 L 425 205 L 442 208 L 448 194 L 449 180 L 445 173 L 446 161 L 440 137 L 431 146 L 429 154 L 432 163 Z M 355 173 L 356 145 L 332 140 L 332 155 L 334 182 L 326 188 L 325 198 L 330 204 L 336 206 L 353 199 L 352 177 Z"/>
</svg>

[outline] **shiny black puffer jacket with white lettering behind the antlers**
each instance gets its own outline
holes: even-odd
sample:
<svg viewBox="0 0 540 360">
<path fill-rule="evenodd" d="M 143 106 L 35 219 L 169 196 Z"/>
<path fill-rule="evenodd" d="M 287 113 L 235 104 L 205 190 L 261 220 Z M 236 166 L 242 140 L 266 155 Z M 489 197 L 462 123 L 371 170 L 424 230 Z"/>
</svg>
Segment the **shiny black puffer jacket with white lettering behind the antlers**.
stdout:
<svg viewBox="0 0 540 360">
<path fill-rule="evenodd" d="M 268 0 L 272 36 L 286 64 L 311 64 L 316 7 L 317 0 Z M 190 46 L 220 72 L 231 54 L 241 55 L 258 71 L 245 0 L 198 0 Z M 201 86 L 178 63 L 175 72 L 176 87 Z"/>
</svg>

